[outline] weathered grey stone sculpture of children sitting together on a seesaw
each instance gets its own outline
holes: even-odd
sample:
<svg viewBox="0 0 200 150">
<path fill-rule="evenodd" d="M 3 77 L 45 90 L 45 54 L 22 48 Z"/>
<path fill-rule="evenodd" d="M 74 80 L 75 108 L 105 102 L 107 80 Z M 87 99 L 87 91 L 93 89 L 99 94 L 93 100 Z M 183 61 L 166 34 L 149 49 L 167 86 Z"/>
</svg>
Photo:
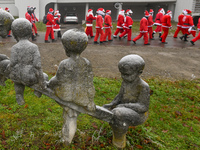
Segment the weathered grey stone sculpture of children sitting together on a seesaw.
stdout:
<svg viewBox="0 0 200 150">
<path fill-rule="evenodd" d="M 7 31 L 7 28 L 3 30 Z M 128 55 L 119 61 L 123 79 L 121 89 L 110 104 L 101 107 L 94 103 L 91 63 L 80 56 L 88 44 L 84 32 L 71 29 L 63 34 L 61 40 L 68 58 L 60 62 L 56 75 L 49 81 L 42 71 L 38 46 L 28 40 L 32 34 L 30 22 L 16 19 L 12 23 L 12 32 L 17 43 L 12 47 L 10 58 L 0 54 L 0 85 L 5 85 L 7 79 L 14 82 L 17 103 L 25 103 L 25 86 L 33 88 L 36 96 L 44 94 L 63 108 L 62 141 L 66 145 L 73 140 L 78 115 L 86 113 L 108 122 L 113 130 L 113 144 L 124 148 L 128 127 L 140 125 L 148 117 L 149 86 L 140 78 L 144 60 L 138 55 Z"/>
</svg>

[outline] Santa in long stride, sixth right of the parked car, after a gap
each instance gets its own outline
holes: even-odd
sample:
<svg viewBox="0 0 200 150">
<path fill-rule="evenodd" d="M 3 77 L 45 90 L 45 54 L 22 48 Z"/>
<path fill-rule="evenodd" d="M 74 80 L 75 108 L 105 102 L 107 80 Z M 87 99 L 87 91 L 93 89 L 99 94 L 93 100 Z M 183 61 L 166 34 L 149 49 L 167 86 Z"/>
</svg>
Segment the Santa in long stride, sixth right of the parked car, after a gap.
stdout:
<svg viewBox="0 0 200 150">
<path fill-rule="evenodd" d="M 140 20 L 140 34 L 136 36 L 133 39 L 134 44 L 136 44 L 136 41 L 139 40 L 142 36 L 144 36 L 144 45 L 150 45 L 148 43 L 148 18 L 149 18 L 149 13 L 146 10 L 145 11 L 145 16 Z"/>
</svg>

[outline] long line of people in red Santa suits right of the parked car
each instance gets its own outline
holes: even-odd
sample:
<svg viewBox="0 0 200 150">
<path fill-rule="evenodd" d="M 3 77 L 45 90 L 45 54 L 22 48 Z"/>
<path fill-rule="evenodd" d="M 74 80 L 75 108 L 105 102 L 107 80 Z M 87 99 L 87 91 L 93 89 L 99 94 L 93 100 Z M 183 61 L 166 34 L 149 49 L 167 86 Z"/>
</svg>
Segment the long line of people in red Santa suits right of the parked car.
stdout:
<svg viewBox="0 0 200 150">
<path fill-rule="evenodd" d="M 111 18 L 111 10 L 104 10 L 103 8 L 99 8 L 96 11 L 97 15 L 94 16 L 93 10 L 89 9 L 88 14 L 86 15 L 86 29 L 85 33 L 91 38 L 93 35 L 93 20 L 96 20 L 96 35 L 94 37 L 94 43 L 98 44 L 98 38 L 100 36 L 100 43 L 112 41 L 112 18 Z M 169 29 L 172 28 L 171 18 L 172 11 L 168 10 L 165 13 L 163 8 L 158 10 L 158 13 L 155 17 L 155 22 L 153 21 L 153 9 L 150 9 L 149 12 L 146 10 L 144 12 L 144 17 L 140 20 L 140 34 L 137 35 L 134 39 L 131 39 L 132 36 L 132 25 L 133 20 L 131 18 L 133 11 L 131 9 L 121 10 L 118 14 L 117 19 L 117 29 L 113 34 L 113 38 L 117 38 L 119 35 L 119 39 L 123 37 L 127 37 L 128 41 L 133 41 L 136 44 L 136 41 L 141 37 L 144 39 L 144 45 L 150 45 L 149 39 L 154 40 L 154 35 L 159 33 L 160 41 L 163 44 L 167 44 L 166 38 L 169 33 Z M 196 30 L 194 29 L 193 18 L 191 16 L 191 11 L 188 9 L 184 9 L 182 14 L 178 17 L 177 30 L 174 33 L 174 38 L 177 38 L 179 31 L 182 31 L 183 36 L 180 37 L 181 40 L 187 41 L 188 35 L 192 34 L 193 37 L 196 35 Z M 153 31 L 153 25 L 156 26 L 156 29 Z M 104 32 L 105 28 L 105 32 Z M 198 30 L 200 30 L 200 19 L 197 25 Z M 163 34 L 162 34 L 163 33 Z M 108 40 L 107 40 L 108 39 Z M 200 34 L 192 39 L 190 42 L 194 45 L 200 39 Z"/>
</svg>

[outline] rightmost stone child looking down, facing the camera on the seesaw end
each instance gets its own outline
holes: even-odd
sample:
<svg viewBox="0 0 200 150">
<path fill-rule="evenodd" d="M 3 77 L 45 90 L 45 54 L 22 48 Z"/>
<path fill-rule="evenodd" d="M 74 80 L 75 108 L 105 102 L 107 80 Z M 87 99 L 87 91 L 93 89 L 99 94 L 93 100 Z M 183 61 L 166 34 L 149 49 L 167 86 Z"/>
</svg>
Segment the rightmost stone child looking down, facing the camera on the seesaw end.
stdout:
<svg viewBox="0 0 200 150">
<path fill-rule="evenodd" d="M 127 55 L 118 64 L 123 79 L 119 94 L 110 104 L 103 107 L 112 110 L 113 144 L 125 147 L 126 132 L 129 126 L 137 126 L 147 119 L 149 109 L 149 85 L 139 76 L 145 66 L 138 55 Z"/>
</svg>

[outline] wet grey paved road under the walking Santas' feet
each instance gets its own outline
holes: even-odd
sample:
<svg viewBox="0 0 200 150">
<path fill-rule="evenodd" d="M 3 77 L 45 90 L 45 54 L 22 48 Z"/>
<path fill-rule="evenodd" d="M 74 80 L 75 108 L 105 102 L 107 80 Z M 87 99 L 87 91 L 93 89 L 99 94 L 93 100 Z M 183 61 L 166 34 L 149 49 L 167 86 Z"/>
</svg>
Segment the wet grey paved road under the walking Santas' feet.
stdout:
<svg viewBox="0 0 200 150">
<path fill-rule="evenodd" d="M 80 24 L 64 24 L 62 25 L 61 28 L 61 33 L 64 33 L 66 30 L 71 29 L 71 28 L 78 28 L 82 31 L 84 31 L 84 28 L 80 25 Z M 37 37 L 37 41 L 34 41 L 34 43 L 44 43 L 44 36 L 45 36 L 45 32 L 39 32 L 39 35 Z M 55 34 L 55 37 L 57 36 L 57 34 Z M 136 33 L 132 34 L 132 39 L 137 36 Z M 188 39 L 188 41 L 192 40 L 192 36 L 190 36 L 190 38 Z M 94 44 L 93 43 L 94 39 L 89 38 L 89 44 Z M 15 39 L 13 37 L 9 37 L 6 39 L 2 39 L 0 37 L 0 42 L 16 42 Z M 197 41 L 195 43 L 195 45 L 192 45 L 190 42 L 184 42 L 181 41 L 179 38 L 174 39 L 172 36 L 168 36 L 166 41 L 168 42 L 168 44 L 162 44 L 159 41 L 158 38 L 158 34 L 155 35 L 155 40 L 150 40 L 150 44 L 148 45 L 150 47 L 166 47 L 166 48 L 170 48 L 170 47 L 178 47 L 178 48 L 186 48 L 186 47 L 200 47 L 200 41 Z M 60 43 L 60 39 L 56 42 L 56 43 Z M 112 42 L 106 42 L 106 43 L 102 43 L 101 45 L 105 45 L 105 46 L 116 46 L 116 45 L 124 45 L 124 46 L 144 46 L 143 44 L 143 39 L 139 39 L 138 41 L 136 41 L 136 44 L 134 44 L 132 41 L 127 41 L 126 38 L 122 38 L 121 40 L 119 40 L 118 38 L 113 39 Z M 145 47 L 148 47 L 145 45 Z"/>
</svg>

